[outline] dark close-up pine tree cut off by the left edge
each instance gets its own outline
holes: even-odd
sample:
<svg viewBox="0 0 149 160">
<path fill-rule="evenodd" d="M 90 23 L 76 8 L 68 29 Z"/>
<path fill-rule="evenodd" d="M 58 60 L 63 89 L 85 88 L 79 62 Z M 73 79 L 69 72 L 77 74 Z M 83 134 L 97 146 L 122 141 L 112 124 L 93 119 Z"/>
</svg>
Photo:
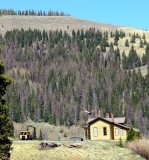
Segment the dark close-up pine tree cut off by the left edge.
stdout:
<svg viewBox="0 0 149 160">
<path fill-rule="evenodd" d="M 4 95 L 6 87 L 11 83 L 11 79 L 4 75 L 4 64 L 0 61 L 0 159 L 10 159 L 10 149 L 12 142 L 8 138 L 11 134 L 12 122 L 7 115 Z"/>
</svg>

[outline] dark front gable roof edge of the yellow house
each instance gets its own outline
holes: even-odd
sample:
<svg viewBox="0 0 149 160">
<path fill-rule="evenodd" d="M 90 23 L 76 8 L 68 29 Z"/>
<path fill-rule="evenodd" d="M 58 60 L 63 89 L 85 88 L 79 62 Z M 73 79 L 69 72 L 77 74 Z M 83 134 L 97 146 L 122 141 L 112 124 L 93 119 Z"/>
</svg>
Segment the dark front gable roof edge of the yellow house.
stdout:
<svg viewBox="0 0 149 160">
<path fill-rule="evenodd" d="M 98 120 L 102 120 L 104 122 L 107 122 L 107 123 L 110 123 L 110 124 L 114 124 L 114 125 L 119 126 L 121 128 L 125 128 L 125 129 L 129 129 L 130 128 L 128 125 L 122 125 L 122 124 L 119 124 L 119 123 L 111 121 L 111 119 L 103 118 L 103 117 L 94 118 L 93 120 L 88 122 L 88 125 L 91 125 L 92 123 L 94 123 L 94 122 L 96 122 Z"/>
</svg>

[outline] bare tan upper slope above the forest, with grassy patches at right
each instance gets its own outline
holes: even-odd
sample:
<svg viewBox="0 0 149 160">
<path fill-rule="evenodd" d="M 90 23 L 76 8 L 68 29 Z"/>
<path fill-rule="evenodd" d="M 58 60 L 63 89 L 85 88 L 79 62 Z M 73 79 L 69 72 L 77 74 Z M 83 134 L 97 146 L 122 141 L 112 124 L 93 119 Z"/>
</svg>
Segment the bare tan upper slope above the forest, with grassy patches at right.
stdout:
<svg viewBox="0 0 149 160">
<path fill-rule="evenodd" d="M 130 41 L 131 35 L 134 33 L 146 36 L 146 41 L 149 42 L 149 31 L 144 31 L 132 27 L 116 26 L 111 24 L 104 24 L 98 22 L 92 22 L 87 20 L 81 20 L 71 16 L 18 16 L 18 15 L 3 15 L 0 17 L 0 34 L 4 35 L 7 31 L 13 29 L 39 29 L 39 30 L 62 30 L 68 33 L 72 33 L 72 30 L 88 30 L 89 28 L 95 28 L 96 30 L 105 32 L 115 32 L 116 30 L 122 30 L 126 33 L 126 37 L 119 40 L 118 47 L 120 51 L 125 51 L 128 55 L 131 45 L 125 47 L 125 41 Z M 109 42 L 113 42 L 113 38 L 109 39 Z M 133 44 L 137 50 L 138 55 L 142 56 L 145 53 L 145 48 L 139 47 L 139 39 Z M 115 47 L 116 48 L 116 47 Z"/>
</svg>

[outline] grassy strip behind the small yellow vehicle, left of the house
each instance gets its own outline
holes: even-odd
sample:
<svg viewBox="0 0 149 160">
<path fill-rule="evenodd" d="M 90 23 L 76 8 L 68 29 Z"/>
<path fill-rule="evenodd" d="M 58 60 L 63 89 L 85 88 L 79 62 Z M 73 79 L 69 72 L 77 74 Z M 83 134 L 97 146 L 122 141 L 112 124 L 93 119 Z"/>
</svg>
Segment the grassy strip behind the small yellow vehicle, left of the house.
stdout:
<svg viewBox="0 0 149 160">
<path fill-rule="evenodd" d="M 61 136 L 62 140 L 69 140 L 70 137 L 73 136 L 84 136 L 84 131 L 82 127 L 78 126 L 71 126 L 71 127 L 65 127 L 65 126 L 54 126 L 50 125 L 48 123 L 35 123 L 31 120 L 28 120 L 25 123 L 14 123 L 14 137 L 15 139 L 19 139 L 19 133 L 21 130 L 26 130 L 28 125 L 32 125 L 36 127 L 37 131 L 37 138 L 39 137 L 40 130 L 42 131 L 43 139 L 44 140 L 51 140 L 55 141 L 58 138 L 58 135 Z M 29 129 L 31 132 L 33 131 L 32 128 Z M 65 136 L 64 136 L 65 135 Z"/>
</svg>

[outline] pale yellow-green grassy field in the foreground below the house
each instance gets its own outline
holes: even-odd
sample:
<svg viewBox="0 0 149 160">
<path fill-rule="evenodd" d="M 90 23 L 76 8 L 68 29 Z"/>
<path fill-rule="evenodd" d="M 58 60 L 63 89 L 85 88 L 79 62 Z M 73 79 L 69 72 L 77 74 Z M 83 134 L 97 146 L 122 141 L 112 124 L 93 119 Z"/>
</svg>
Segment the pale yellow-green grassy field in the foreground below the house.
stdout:
<svg viewBox="0 0 149 160">
<path fill-rule="evenodd" d="M 38 141 L 13 143 L 11 160 L 143 160 L 129 149 L 114 143 L 82 142 L 81 148 L 69 148 L 74 142 L 63 142 L 60 147 L 40 150 Z"/>
</svg>

